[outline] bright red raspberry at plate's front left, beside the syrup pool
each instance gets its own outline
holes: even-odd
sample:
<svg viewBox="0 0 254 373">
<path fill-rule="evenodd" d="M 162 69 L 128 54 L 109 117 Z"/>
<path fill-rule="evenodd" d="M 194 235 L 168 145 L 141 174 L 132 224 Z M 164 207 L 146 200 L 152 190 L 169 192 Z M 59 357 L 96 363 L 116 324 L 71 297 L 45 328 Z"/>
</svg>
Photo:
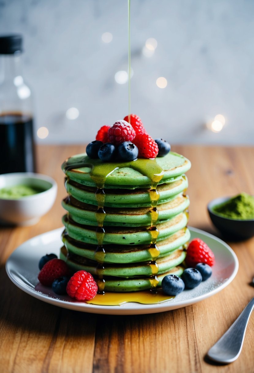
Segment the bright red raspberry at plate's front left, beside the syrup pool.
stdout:
<svg viewBox="0 0 254 373">
<path fill-rule="evenodd" d="M 89 301 L 95 297 L 97 290 L 98 286 L 91 273 L 83 270 L 74 273 L 66 287 L 67 294 L 78 301 Z"/>
</svg>

